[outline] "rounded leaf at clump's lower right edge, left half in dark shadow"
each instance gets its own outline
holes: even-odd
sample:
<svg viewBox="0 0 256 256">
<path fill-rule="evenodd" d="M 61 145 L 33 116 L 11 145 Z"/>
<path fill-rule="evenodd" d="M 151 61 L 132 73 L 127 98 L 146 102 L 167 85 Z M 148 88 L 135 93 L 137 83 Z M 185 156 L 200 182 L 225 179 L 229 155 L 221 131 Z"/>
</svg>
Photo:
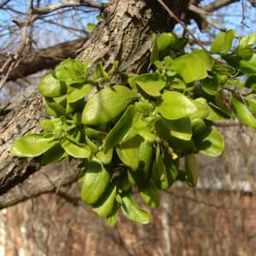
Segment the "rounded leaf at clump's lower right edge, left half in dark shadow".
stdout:
<svg viewBox="0 0 256 256">
<path fill-rule="evenodd" d="M 223 153 L 224 138 L 217 130 L 208 128 L 201 137 L 195 138 L 195 145 L 201 154 L 214 157 Z"/>
</svg>

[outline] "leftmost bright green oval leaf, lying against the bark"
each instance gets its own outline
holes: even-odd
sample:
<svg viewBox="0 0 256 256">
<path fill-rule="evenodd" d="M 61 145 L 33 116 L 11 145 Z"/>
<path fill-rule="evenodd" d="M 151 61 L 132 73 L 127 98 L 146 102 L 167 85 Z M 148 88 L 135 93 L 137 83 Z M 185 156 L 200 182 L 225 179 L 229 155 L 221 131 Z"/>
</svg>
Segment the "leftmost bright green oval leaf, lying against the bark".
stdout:
<svg viewBox="0 0 256 256">
<path fill-rule="evenodd" d="M 36 157 L 55 145 L 55 137 L 43 134 L 27 134 L 20 137 L 10 148 L 10 153 L 19 157 Z"/>
</svg>

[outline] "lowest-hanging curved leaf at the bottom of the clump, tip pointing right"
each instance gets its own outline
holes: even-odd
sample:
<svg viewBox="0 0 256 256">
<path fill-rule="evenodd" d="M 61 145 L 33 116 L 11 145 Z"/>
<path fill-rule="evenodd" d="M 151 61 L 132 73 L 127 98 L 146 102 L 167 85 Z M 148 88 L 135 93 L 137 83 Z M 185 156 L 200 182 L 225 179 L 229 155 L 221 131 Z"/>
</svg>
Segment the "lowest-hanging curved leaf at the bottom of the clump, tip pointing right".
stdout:
<svg viewBox="0 0 256 256">
<path fill-rule="evenodd" d="M 136 221 L 139 224 L 148 224 L 150 214 L 137 206 L 136 201 L 131 197 L 131 193 L 126 192 L 122 195 L 123 204 L 121 210 L 127 218 Z"/>
</svg>

